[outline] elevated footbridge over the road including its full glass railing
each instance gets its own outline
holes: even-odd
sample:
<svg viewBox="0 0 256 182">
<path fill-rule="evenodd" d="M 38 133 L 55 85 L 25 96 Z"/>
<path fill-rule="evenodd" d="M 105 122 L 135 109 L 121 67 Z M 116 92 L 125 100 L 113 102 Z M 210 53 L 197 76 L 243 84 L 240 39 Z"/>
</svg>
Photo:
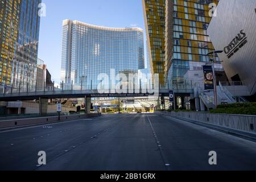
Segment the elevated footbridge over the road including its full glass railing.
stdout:
<svg viewBox="0 0 256 182">
<path fill-rule="evenodd" d="M 123 89 L 123 86 L 125 88 Z M 145 86 L 145 85 L 144 85 Z M 126 90 L 127 88 L 127 90 Z M 131 85 L 125 84 L 120 86 L 119 90 L 105 89 L 104 85 L 75 85 L 61 84 L 60 88 L 54 86 L 43 87 L 26 87 L 14 88 L 13 86 L 0 86 L 0 100 L 35 100 L 39 97 L 47 98 L 72 98 L 72 97 L 145 97 L 145 96 L 168 96 L 169 90 L 174 90 L 175 93 L 189 94 L 193 93 L 192 82 L 178 82 L 175 84 L 168 84 L 166 86 L 159 86 L 155 89 L 154 86 L 145 89 L 143 84 Z"/>
</svg>

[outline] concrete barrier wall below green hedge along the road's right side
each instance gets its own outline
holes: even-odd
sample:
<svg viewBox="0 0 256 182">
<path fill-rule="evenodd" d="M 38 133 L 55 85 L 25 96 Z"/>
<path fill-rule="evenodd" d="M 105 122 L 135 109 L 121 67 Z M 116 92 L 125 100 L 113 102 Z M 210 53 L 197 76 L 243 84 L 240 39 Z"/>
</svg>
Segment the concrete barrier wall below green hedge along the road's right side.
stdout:
<svg viewBox="0 0 256 182">
<path fill-rule="evenodd" d="M 156 111 L 157 113 L 171 114 L 176 117 L 192 119 L 213 125 L 228 127 L 230 129 L 241 130 L 251 133 L 256 133 L 256 115 L 237 115 L 237 114 L 210 114 L 200 112 L 185 112 L 185 111 Z M 253 124 L 254 130 L 251 130 Z"/>
</svg>

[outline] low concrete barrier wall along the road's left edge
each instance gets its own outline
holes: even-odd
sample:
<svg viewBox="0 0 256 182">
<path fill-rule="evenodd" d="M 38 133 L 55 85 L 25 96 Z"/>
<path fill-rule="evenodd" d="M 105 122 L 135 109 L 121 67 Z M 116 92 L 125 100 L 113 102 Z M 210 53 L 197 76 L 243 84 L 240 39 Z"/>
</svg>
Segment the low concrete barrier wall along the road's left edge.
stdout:
<svg viewBox="0 0 256 182">
<path fill-rule="evenodd" d="M 58 121 L 58 116 L 53 117 L 42 117 L 42 118 L 27 118 L 27 119 L 13 119 L 0 121 L 0 129 L 4 129 L 7 127 L 15 127 L 15 126 L 24 126 L 24 125 L 38 125 L 38 124 L 49 124 L 52 122 L 63 122 L 69 121 L 73 119 L 81 119 L 81 118 L 92 118 L 100 116 L 100 113 L 96 114 L 74 114 L 74 115 L 61 115 L 60 121 Z"/>
</svg>

